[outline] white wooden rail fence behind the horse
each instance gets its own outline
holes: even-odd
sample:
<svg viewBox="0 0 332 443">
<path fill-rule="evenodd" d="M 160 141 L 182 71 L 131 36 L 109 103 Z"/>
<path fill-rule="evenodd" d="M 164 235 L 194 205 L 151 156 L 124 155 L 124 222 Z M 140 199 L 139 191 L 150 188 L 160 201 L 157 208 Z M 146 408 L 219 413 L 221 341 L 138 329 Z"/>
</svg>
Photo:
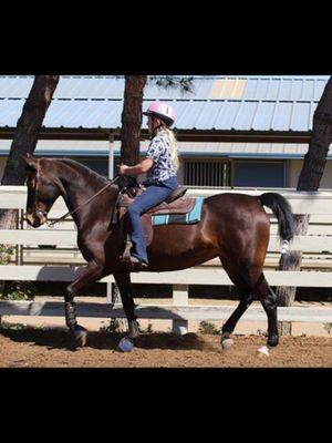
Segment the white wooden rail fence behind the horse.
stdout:
<svg viewBox="0 0 332 443">
<path fill-rule="evenodd" d="M 242 190 L 242 189 L 189 189 L 189 196 L 209 196 L 222 192 L 241 192 L 250 195 L 260 195 L 264 190 Z M 307 236 L 295 238 L 291 245 L 292 249 L 302 250 L 307 257 L 305 270 L 301 271 L 279 271 L 276 269 L 280 258 L 280 241 L 277 237 L 277 222 L 271 212 L 267 209 L 271 218 L 271 237 L 269 243 L 268 256 L 264 266 L 264 274 L 271 286 L 301 286 L 301 287 L 329 287 L 332 288 L 332 192 L 299 193 L 293 190 L 278 190 L 291 204 L 294 214 L 310 214 L 311 220 Z M 0 208 L 24 210 L 27 200 L 27 188 L 24 186 L 2 186 L 0 188 Z M 68 208 L 62 199 L 59 199 L 50 213 L 50 217 L 63 215 Z M 65 227 L 65 228 L 64 228 Z M 32 250 L 28 254 L 29 261 L 33 264 L 22 265 L 22 249 L 19 254 L 18 265 L 0 266 L 1 280 L 34 280 L 34 281 L 72 281 L 81 271 L 84 260 L 81 255 L 73 250 L 76 248 L 76 231 L 73 222 L 58 225 L 50 229 L 41 227 L 32 229 L 23 222 L 21 229 L 0 230 L 0 244 L 34 246 L 53 245 L 68 248 L 68 253 L 56 249 L 40 249 L 39 253 Z M 42 257 L 40 255 L 42 254 Z M 49 254 L 49 257 L 48 257 Z M 50 266 L 46 260 L 59 255 L 61 266 Z M 61 259 L 62 254 L 62 259 Z M 63 259 L 63 254 L 70 254 L 70 258 Z M 27 257 L 24 262 L 27 261 Z M 37 265 L 37 262 L 42 264 Z M 70 262 L 64 266 L 63 262 Z M 273 269 L 274 268 L 274 269 Z M 319 270 L 318 270 L 319 269 Z M 103 282 L 113 282 L 112 276 L 105 277 Z M 224 320 L 229 317 L 232 307 L 216 306 L 188 306 L 189 285 L 231 285 L 231 281 L 220 264 L 211 260 L 204 266 L 172 272 L 138 272 L 132 274 L 134 284 L 172 284 L 173 305 L 172 306 L 141 306 L 137 315 L 141 318 L 170 319 L 174 322 L 174 331 L 183 333 L 187 328 L 187 320 Z M 112 303 L 79 303 L 79 316 L 82 317 L 106 317 L 121 318 L 124 312 L 120 306 Z M 332 309 L 330 308 L 278 308 L 280 321 L 332 321 Z M 63 303 L 48 301 L 38 302 L 0 302 L 1 315 L 21 316 L 59 316 L 63 315 Z M 262 308 L 249 308 L 243 316 L 247 320 L 266 319 Z"/>
</svg>

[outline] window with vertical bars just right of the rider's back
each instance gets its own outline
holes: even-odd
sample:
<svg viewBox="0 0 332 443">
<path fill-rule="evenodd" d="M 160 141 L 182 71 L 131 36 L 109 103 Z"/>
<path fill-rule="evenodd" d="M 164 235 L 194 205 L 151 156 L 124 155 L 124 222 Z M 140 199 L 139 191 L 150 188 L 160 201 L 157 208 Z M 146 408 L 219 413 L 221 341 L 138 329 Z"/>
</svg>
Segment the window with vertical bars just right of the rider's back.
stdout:
<svg viewBox="0 0 332 443">
<path fill-rule="evenodd" d="M 230 186 L 229 161 L 185 161 L 184 185 Z"/>
</svg>

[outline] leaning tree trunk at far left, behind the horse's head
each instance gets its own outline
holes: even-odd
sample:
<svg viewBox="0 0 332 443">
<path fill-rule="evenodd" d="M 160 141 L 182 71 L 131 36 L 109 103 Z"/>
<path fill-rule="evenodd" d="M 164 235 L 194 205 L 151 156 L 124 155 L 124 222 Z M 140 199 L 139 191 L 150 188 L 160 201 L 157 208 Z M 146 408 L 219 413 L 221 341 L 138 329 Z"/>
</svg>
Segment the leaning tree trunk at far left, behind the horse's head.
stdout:
<svg viewBox="0 0 332 443">
<path fill-rule="evenodd" d="M 38 142 L 40 128 L 45 113 L 52 101 L 53 93 L 59 83 L 59 75 L 35 75 L 29 96 L 24 103 L 22 114 L 18 121 L 8 161 L 1 179 L 2 186 L 20 186 L 25 182 L 25 162 L 21 155 L 33 154 Z M 19 210 L 0 209 L 0 229 L 15 229 L 18 227 Z M 9 260 L 10 245 L 1 248 L 1 261 Z M 0 291 L 10 290 L 10 284 L 2 285 Z"/>
</svg>

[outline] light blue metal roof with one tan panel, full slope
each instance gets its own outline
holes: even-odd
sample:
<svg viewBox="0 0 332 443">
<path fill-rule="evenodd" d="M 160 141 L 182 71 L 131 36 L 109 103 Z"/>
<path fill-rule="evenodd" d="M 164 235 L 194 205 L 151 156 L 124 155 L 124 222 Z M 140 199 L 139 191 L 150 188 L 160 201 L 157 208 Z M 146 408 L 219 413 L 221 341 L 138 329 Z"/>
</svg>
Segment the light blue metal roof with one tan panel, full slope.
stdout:
<svg viewBox="0 0 332 443">
<path fill-rule="evenodd" d="M 149 81 L 144 109 L 169 102 L 175 127 L 200 131 L 308 132 L 329 76 L 194 76 L 194 92 Z M 33 76 L 0 76 L 0 127 L 15 127 Z M 120 128 L 124 79 L 63 75 L 44 120 L 48 128 Z M 143 120 L 146 127 L 146 120 Z"/>
</svg>

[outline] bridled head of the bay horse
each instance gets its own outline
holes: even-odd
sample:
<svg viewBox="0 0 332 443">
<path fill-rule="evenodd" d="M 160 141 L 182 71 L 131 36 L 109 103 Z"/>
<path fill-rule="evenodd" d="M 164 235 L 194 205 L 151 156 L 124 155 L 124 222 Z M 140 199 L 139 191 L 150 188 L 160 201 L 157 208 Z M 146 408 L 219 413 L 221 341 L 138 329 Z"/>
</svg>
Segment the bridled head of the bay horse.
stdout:
<svg viewBox="0 0 332 443">
<path fill-rule="evenodd" d="M 48 222 L 48 213 L 60 195 L 60 187 L 41 159 L 31 154 L 22 157 L 27 163 L 27 220 L 30 226 L 38 228 Z"/>
</svg>

